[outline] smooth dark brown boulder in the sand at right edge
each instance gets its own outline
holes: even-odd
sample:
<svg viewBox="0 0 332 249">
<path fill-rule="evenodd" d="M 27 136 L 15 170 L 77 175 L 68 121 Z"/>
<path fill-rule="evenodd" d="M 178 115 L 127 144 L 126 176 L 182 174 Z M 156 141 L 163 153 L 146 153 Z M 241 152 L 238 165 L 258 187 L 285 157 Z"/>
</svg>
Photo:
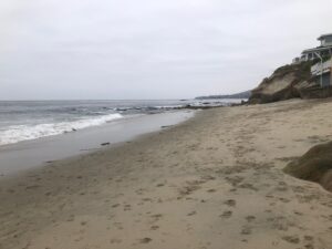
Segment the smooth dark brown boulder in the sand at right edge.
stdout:
<svg viewBox="0 0 332 249">
<path fill-rule="evenodd" d="M 283 170 L 300 179 L 319 183 L 332 191 L 332 142 L 312 147 Z"/>
</svg>

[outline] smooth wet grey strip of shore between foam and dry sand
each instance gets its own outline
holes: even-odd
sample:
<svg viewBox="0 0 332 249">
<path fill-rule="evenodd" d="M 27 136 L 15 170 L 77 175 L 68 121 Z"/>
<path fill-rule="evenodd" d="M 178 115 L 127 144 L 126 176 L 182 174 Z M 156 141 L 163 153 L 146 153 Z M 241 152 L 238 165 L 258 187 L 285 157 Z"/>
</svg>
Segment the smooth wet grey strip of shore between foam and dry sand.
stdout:
<svg viewBox="0 0 332 249">
<path fill-rule="evenodd" d="M 194 115 L 194 111 L 145 114 L 72 133 L 2 145 L 0 146 L 0 176 L 114 147 L 144 134 L 158 132 L 164 126 L 179 124 Z"/>
</svg>

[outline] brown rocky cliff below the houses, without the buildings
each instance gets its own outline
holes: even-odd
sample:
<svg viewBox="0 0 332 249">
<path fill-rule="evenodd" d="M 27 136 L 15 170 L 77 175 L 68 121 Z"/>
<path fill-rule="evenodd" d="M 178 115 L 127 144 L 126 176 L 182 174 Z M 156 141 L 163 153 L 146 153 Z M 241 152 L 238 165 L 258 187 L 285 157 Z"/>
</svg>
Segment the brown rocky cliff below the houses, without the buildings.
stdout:
<svg viewBox="0 0 332 249">
<path fill-rule="evenodd" d="M 249 103 L 262 104 L 293 97 L 310 97 L 311 89 L 317 87 L 310 71 L 314 63 L 302 62 L 277 69 L 270 77 L 252 90 Z"/>
</svg>

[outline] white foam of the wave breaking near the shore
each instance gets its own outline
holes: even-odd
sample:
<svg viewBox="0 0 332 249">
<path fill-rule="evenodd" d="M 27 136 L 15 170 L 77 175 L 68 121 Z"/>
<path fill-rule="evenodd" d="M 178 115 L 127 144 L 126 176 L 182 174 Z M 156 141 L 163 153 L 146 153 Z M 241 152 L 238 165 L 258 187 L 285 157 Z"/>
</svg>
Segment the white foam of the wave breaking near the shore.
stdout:
<svg viewBox="0 0 332 249">
<path fill-rule="evenodd" d="M 93 118 L 81 118 L 72 122 L 37 125 L 12 125 L 7 127 L 4 131 L 0 131 L 0 145 L 14 144 L 21 141 L 37 139 L 40 137 L 59 135 L 91 126 L 98 126 L 122 117 L 123 116 L 121 114 L 115 113 Z"/>
</svg>

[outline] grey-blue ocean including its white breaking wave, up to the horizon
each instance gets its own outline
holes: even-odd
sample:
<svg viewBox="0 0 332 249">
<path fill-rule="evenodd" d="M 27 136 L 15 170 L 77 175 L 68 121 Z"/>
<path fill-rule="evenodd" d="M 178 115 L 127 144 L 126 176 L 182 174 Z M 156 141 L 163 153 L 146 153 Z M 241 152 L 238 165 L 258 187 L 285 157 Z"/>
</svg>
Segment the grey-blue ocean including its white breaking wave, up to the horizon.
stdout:
<svg viewBox="0 0 332 249">
<path fill-rule="evenodd" d="M 169 112 L 185 105 L 226 105 L 196 101 L 0 101 L 0 146 L 101 126 L 121 118 Z"/>
</svg>

